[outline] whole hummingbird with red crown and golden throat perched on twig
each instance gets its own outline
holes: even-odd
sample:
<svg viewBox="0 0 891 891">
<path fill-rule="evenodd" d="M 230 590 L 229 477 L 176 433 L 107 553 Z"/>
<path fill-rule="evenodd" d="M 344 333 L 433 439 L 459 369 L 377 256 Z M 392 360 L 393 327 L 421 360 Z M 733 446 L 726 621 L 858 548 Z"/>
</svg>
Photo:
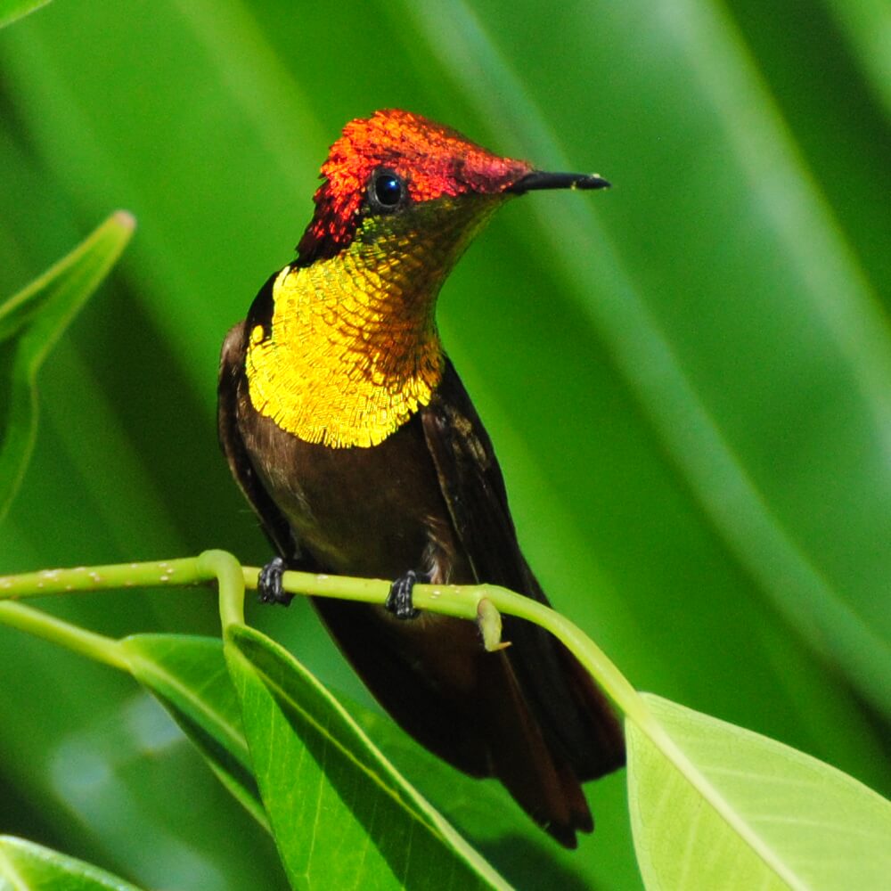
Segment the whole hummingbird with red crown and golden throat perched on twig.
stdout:
<svg viewBox="0 0 891 891">
<path fill-rule="evenodd" d="M 582 782 L 625 762 L 607 699 L 563 645 L 504 617 L 511 646 L 413 609 L 416 582 L 503 585 L 547 604 L 517 541 L 492 442 L 437 331 L 439 290 L 506 201 L 600 189 L 544 173 L 405 110 L 331 145 L 297 258 L 228 332 L 219 439 L 285 568 L 392 579 L 386 606 L 314 598 L 356 672 L 406 732 L 495 777 L 560 844 L 593 830 Z"/>
</svg>

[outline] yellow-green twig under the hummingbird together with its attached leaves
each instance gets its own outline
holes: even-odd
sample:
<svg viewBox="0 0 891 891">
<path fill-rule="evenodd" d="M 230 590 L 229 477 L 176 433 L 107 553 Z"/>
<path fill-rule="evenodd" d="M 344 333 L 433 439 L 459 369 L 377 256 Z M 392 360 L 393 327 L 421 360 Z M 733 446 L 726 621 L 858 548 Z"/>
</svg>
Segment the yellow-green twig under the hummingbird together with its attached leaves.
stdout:
<svg viewBox="0 0 891 891">
<path fill-rule="evenodd" d="M 115 641 L 15 601 L 91 589 L 217 580 L 223 640 Z M 158 697 L 220 781 L 275 839 L 290 887 L 507 888 L 405 781 L 297 659 L 244 625 L 257 568 L 231 554 L 0 576 L 0 622 L 133 674 Z M 286 573 L 293 593 L 383 603 L 386 581 Z M 648 888 L 883 887 L 891 802 L 827 764 L 756 733 L 641 696 L 575 625 L 493 585 L 420 585 L 419 609 L 477 618 L 500 648 L 500 613 L 568 646 L 625 714 L 634 845 Z M 448 773 L 437 763 L 432 772 Z M 464 783 L 470 781 L 465 779 Z M 472 794 L 472 793 L 471 793 Z M 814 814 L 819 816 L 814 819 Z M 58 867 L 52 853 L 46 861 Z M 91 879 L 85 864 L 66 874 Z M 14 852 L 0 879 L 20 876 Z M 64 879 L 48 887 L 66 887 Z"/>
</svg>

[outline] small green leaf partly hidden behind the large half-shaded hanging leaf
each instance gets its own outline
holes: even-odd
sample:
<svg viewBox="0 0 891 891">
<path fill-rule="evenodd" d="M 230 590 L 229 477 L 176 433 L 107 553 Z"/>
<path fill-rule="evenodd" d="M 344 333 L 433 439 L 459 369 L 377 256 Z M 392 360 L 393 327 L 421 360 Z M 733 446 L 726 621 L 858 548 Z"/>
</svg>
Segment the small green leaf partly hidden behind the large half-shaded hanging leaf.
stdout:
<svg viewBox="0 0 891 891">
<path fill-rule="evenodd" d="M 135 678 L 173 715 L 225 788 L 268 830 L 223 642 L 179 634 L 135 634 L 120 642 L 120 650 Z"/>
</svg>

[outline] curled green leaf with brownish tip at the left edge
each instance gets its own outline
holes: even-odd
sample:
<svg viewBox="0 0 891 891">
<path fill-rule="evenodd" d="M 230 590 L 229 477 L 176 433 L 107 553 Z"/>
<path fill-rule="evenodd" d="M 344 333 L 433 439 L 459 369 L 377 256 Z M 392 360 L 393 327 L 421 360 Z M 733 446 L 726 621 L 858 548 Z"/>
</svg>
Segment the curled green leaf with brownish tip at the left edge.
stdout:
<svg viewBox="0 0 891 891">
<path fill-rule="evenodd" d="M 134 218 L 118 211 L 67 257 L 0 306 L 0 519 L 34 448 L 37 372 L 114 266 L 134 228 Z"/>
</svg>

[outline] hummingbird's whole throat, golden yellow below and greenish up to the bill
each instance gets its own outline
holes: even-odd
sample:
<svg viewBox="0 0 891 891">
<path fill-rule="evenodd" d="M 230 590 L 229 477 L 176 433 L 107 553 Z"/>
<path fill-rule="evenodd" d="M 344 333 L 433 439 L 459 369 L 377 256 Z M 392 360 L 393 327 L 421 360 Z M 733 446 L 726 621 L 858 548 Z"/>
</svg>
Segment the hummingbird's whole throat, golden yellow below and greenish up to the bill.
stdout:
<svg viewBox="0 0 891 891">
<path fill-rule="evenodd" d="M 436 299 L 446 275 L 507 194 L 421 201 L 368 217 L 347 249 L 286 266 L 273 317 L 249 332 L 257 412 L 307 442 L 377 446 L 442 380 Z"/>
</svg>

